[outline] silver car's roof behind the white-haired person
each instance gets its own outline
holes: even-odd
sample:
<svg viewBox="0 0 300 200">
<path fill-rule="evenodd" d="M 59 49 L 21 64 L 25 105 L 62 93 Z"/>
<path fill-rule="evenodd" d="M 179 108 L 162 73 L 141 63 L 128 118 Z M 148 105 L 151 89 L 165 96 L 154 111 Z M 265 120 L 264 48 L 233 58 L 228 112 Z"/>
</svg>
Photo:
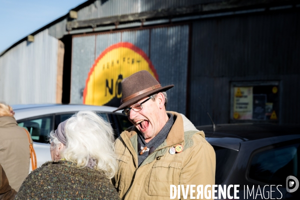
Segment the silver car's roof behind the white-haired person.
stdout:
<svg viewBox="0 0 300 200">
<path fill-rule="evenodd" d="M 79 110 L 94 110 L 101 112 L 112 112 L 116 107 L 97 106 L 85 104 L 14 104 L 11 105 L 14 110 L 16 120 L 63 112 L 75 112 Z M 121 111 L 117 111 L 120 113 Z"/>
</svg>

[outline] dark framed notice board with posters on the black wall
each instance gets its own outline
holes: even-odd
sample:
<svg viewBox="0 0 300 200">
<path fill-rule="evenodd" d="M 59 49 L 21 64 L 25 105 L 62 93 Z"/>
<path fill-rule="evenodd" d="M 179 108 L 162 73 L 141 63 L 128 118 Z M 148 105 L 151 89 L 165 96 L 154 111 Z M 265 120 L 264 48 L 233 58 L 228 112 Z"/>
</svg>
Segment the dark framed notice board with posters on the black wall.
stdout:
<svg viewBox="0 0 300 200">
<path fill-rule="evenodd" d="M 235 82 L 231 84 L 230 119 L 278 121 L 278 82 Z"/>
</svg>

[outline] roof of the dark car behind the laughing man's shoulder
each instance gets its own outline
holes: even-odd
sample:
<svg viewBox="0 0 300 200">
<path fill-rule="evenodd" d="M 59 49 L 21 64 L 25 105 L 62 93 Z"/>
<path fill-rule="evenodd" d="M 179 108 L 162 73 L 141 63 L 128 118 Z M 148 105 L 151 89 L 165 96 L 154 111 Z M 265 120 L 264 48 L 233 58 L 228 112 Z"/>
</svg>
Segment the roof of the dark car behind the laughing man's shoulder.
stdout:
<svg viewBox="0 0 300 200">
<path fill-rule="evenodd" d="M 203 130 L 206 137 L 232 137 L 242 140 L 254 140 L 287 134 L 299 134 L 300 124 L 276 123 L 228 123 L 196 127 Z"/>
</svg>

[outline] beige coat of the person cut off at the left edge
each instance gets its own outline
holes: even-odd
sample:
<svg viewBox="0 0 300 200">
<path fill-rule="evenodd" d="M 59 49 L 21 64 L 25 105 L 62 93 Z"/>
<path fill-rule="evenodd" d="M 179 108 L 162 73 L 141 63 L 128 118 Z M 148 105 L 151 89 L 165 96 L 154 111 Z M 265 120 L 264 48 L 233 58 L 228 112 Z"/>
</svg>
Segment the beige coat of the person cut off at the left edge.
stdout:
<svg viewBox="0 0 300 200">
<path fill-rule="evenodd" d="M 29 172 L 29 141 L 14 117 L 0 116 L 0 164 L 10 186 L 18 191 Z"/>
</svg>

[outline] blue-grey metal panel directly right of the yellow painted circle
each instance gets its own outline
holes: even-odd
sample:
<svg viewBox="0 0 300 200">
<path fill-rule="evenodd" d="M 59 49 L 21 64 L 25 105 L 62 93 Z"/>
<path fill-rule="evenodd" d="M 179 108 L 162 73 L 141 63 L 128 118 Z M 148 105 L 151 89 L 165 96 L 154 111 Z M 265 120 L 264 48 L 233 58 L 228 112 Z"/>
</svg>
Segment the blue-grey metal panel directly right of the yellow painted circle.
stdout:
<svg viewBox="0 0 300 200">
<path fill-rule="evenodd" d="M 153 28 L 150 59 L 167 91 L 167 109 L 185 114 L 188 56 L 188 25 Z"/>
</svg>

